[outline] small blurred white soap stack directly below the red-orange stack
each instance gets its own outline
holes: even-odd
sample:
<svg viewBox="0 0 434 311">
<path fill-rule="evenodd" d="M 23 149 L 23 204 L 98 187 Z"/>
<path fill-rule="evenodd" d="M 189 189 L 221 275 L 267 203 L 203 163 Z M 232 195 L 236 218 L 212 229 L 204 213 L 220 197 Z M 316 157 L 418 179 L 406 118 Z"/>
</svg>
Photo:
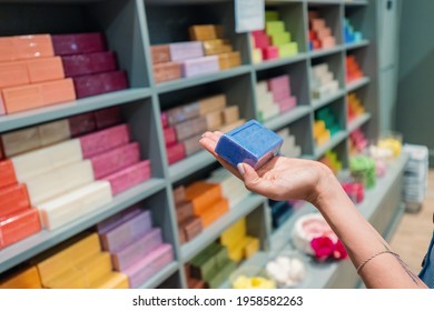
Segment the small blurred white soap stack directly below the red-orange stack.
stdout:
<svg viewBox="0 0 434 311">
<path fill-rule="evenodd" d="M 339 82 L 326 62 L 312 67 L 312 97 L 324 99 L 339 90 Z"/>
</svg>

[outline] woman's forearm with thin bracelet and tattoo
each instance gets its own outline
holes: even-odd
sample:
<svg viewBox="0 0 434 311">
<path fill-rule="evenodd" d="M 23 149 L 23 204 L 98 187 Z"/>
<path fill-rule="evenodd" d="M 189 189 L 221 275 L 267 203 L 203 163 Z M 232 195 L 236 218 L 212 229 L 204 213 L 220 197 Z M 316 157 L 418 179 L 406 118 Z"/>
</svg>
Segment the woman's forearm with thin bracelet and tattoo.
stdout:
<svg viewBox="0 0 434 311">
<path fill-rule="evenodd" d="M 392 251 L 388 243 L 353 204 L 333 174 L 326 174 L 318 183 L 317 199 L 313 203 L 339 237 L 356 268 L 374 254 Z M 426 288 L 391 253 L 379 254 L 366 262 L 359 274 L 368 288 Z"/>
</svg>

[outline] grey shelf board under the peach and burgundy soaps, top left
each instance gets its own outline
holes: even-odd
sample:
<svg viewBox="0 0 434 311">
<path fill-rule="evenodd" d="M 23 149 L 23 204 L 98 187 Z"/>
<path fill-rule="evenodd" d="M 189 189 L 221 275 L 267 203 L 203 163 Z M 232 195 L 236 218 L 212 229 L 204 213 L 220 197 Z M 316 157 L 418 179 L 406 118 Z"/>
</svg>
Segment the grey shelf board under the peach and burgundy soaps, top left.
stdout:
<svg viewBox="0 0 434 311">
<path fill-rule="evenodd" d="M 146 99 L 149 98 L 150 94 L 151 91 L 148 88 L 136 88 L 39 108 L 26 112 L 1 116 L 0 132 Z"/>
</svg>

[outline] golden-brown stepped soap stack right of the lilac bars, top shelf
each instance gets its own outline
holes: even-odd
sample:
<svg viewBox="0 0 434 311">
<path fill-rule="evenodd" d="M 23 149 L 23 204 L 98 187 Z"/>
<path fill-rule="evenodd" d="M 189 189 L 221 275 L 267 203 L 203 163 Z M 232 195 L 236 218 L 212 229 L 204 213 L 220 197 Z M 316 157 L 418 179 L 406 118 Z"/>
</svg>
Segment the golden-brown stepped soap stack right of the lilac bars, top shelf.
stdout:
<svg viewBox="0 0 434 311">
<path fill-rule="evenodd" d="M 223 28 L 216 24 L 197 24 L 189 28 L 190 39 L 201 41 L 206 56 L 217 56 L 220 70 L 241 64 L 241 54 L 234 51 L 229 40 L 224 39 Z"/>
</svg>

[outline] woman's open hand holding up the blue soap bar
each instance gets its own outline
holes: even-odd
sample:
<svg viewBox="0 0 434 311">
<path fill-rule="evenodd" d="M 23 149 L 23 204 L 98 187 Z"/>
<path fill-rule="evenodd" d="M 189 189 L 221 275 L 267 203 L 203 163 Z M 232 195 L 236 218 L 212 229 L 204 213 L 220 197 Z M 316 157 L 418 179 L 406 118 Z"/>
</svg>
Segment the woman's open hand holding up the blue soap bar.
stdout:
<svg viewBox="0 0 434 311">
<path fill-rule="evenodd" d="M 247 163 L 234 168 L 215 152 L 220 136 L 221 132 L 206 132 L 200 143 L 221 165 L 244 180 L 248 190 L 273 200 L 297 199 L 315 204 L 327 188 L 327 180 L 334 178 L 332 171 L 317 161 L 285 157 L 274 157 L 257 171 Z"/>
</svg>

